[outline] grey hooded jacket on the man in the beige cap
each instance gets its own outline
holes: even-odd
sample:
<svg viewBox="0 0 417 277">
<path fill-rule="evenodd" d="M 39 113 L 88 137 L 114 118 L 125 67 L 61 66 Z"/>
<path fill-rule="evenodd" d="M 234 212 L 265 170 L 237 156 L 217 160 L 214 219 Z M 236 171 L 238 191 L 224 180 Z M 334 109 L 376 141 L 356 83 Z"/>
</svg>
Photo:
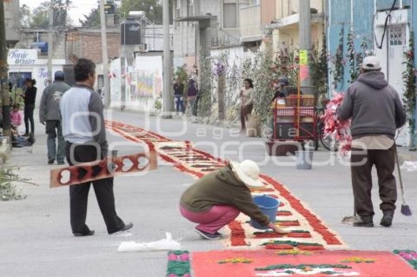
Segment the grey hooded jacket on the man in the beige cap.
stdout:
<svg viewBox="0 0 417 277">
<path fill-rule="evenodd" d="M 367 135 L 386 135 L 391 139 L 405 124 L 404 107 L 395 89 L 379 71 L 363 73 L 346 91 L 339 117 L 352 118 L 354 139 Z"/>
</svg>

